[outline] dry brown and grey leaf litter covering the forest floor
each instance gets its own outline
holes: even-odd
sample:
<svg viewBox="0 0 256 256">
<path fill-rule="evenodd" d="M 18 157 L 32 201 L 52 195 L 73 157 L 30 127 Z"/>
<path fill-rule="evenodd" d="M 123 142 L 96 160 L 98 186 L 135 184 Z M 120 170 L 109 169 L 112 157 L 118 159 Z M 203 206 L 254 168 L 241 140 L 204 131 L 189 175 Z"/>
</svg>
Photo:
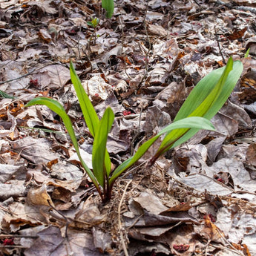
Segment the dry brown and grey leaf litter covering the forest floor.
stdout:
<svg viewBox="0 0 256 256">
<path fill-rule="evenodd" d="M 108 20 L 99 1 L 0 5 L 2 255 L 256 255 L 254 1 L 115 1 Z M 129 170 L 105 205 L 59 116 L 24 108 L 36 96 L 62 102 L 90 166 L 73 59 L 99 116 L 114 110 L 108 151 L 119 165 L 231 55 L 244 70 L 216 131 Z"/>
</svg>

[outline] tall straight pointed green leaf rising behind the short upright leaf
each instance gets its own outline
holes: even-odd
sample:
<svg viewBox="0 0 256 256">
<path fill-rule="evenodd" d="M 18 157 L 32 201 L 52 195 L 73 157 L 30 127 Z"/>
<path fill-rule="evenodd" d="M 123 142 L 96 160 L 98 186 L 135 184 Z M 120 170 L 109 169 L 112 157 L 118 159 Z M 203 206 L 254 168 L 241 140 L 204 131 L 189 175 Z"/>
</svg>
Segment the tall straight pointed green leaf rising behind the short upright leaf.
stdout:
<svg viewBox="0 0 256 256">
<path fill-rule="evenodd" d="M 82 114 L 84 115 L 86 125 L 91 132 L 91 135 L 95 137 L 96 130 L 99 126 L 99 117 L 91 104 L 91 100 L 85 93 L 85 89 L 82 87 L 79 77 L 76 74 L 76 70 L 73 68 L 73 63 L 70 61 L 70 76 L 73 86 L 76 90 L 76 95 L 79 100 Z"/>
</svg>

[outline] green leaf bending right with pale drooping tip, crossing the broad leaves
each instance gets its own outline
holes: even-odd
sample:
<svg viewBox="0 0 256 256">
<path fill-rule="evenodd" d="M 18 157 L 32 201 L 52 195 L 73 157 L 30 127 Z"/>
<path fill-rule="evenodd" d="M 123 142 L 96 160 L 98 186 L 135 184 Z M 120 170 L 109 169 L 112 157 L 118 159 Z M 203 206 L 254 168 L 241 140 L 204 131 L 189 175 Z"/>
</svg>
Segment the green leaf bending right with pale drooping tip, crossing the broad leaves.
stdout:
<svg viewBox="0 0 256 256">
<path fill-rule="evenodd" d="M 119 177 L 119 175 L 122 174 L 122 172 L 130 168 L 131 165 L 134 165 L 134 163 L 136 163 L 137 160 L 140 160 L 140 158 L 143 156 L 143 154 L 145 154 L 148 148 L 150 148 L 150 146 L 162 134 L 168 133 L 173 130 L 175 131 L 176 129 L 180 129 L 180 128 L 197 128 L 197 129 L 206 129 L 211 131 L 214 130 L 214 126 L 211 124 L 211 122 L 208 119 L 205 119 L 203 117 L 197 117 L 197 116 L 187 117 L 185 119 L 181 119 L 181 120 L 178 120 L 177 122 L 171 123 L 171 125 L 168 125 L 165 128 L 163 128 L 163 130 L 160 131 L 159 134 L 157 134 L 150 140 L 143 143 L 133 157 L 129 158 L 128 160 L 125 160 L 125 162 L 119 165 L 111 176 L 110 184 L 114 183 L 114 180 L 116 180 L 116 178 Z"/>
</svg>

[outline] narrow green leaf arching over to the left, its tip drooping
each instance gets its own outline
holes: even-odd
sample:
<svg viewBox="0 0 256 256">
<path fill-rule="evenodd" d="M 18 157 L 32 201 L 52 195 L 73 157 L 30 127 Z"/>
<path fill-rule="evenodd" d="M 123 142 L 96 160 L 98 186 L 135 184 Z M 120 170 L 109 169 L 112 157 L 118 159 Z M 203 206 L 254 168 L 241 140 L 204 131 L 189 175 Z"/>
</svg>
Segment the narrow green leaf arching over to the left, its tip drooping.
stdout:
<svg viewBox="0 0 256 256">
<path fill-rule="evenodd" d="M 25 107 L 29 107 L 32 105 L 46 105 L 48 108 L 50 108 L 52 111 L 54 111 L 56 114 L 58 114 L 62 118 L 62 121 L 64 122 L 65 128 L 67 129 L 68 134 L 70 135 L 70 139 L 72 140 L 73 147 L 76 149 L 76 154 L 79 157 L 79 160 L 82 163 L 83 168 L 85 168 L 85 171 L 87 172 L 88 176 L 91 178 L 91 180 L 93 181 L 93 184 L 96 186 L 97 190 L 99 191 L 99 185 L 96 181 L 96 178 L 94 177 L 90 168 L 88 168 L 88 166 L 85 164 L 84 160 L 82 160 L 82 157 L 79 151 L 79 145 L 76 140 L 76 134 L 73 131 L 72 122 L 70 121 L 70 118 L 66 114 L 65 109 L 62 107 L 62 105 L 60 105 L 59 102 L 57 102 L 54 99 L 49 99 L 44 97 L 39 97 L 39 98 L 30 100 L 30 102 L 28 102 L 27 105 L 25 105 Z"/>
</svg>

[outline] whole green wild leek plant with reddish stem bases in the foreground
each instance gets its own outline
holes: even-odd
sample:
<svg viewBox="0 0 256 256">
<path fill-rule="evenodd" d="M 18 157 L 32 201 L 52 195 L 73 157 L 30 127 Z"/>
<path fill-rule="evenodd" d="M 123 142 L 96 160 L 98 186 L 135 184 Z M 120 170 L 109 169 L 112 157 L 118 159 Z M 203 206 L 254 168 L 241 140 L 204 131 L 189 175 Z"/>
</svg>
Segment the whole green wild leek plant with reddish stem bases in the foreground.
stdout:
<svg viewBox="0 0 256 256">
<path fill-rule="evenodd" d="M 88 168 L 88 165 L 82 160 L 72 122 L 59 102 L 54 99 L 40 97 L 32 99 L 26 106 L 38 104 L 46 105 L 62 117 L 62 121 L 70 135 L 70 139 L 73 142 L 82 167 L 91 178 L 96 190 L 99 192 L 102 202 L 105 203 L 111 199 L 111 191 L 117 177 L 137 163 L 143 154 L 148 151 L 148 148 L 150 148 L 162 134 L 165 134 L 165 137 L 157 152 L 151 157 L 149 162 L 151 165 L 170 148 L 174 148 L 186 142 L 200 129 L 214 130 L 209 120 L 217 114 L 217 111 L 220 110 L 226 102 L 226 99 L 228 99 L 242 70 L 243 64 L 239 61 L 233 62 L 232 58 L 230 58 L 226 67 L 219 68 L 209 73 L 209 75 L 204 77 L 194 87 L 193 91 L 191 91 L 175 117 L 174 122 L 163 128 L 159 134 L 142 144 L 134 156 L 125 160 L 114 171 L 111 170 L 111 159 L 106 148 L 108 133 L 111 131 L 111 126 L 114 122 L 114 113 L 111 108 L 108 107 L 102 119 L 99 119 L 73 68 L 72 62 L 70 62 L 71 81 L 76 90 L 85 122 L 94 139 L 92 151 L 93 170 Z"/>
</svg>

